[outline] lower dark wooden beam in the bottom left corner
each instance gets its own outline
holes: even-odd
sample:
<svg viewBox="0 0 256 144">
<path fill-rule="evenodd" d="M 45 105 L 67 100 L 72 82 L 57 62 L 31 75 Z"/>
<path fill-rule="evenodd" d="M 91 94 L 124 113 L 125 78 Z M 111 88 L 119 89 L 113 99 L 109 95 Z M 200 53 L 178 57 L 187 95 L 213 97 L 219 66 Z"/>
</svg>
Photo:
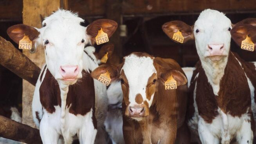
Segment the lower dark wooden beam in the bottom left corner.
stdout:
<svg viewBox="0 0 256 144">
<path fill-rule="evenodd" d="M 0 115 L 0 137 L 25 142 L 27 144 L 42 144 L 40 132 L 20 122 Z"/>
</svg>

